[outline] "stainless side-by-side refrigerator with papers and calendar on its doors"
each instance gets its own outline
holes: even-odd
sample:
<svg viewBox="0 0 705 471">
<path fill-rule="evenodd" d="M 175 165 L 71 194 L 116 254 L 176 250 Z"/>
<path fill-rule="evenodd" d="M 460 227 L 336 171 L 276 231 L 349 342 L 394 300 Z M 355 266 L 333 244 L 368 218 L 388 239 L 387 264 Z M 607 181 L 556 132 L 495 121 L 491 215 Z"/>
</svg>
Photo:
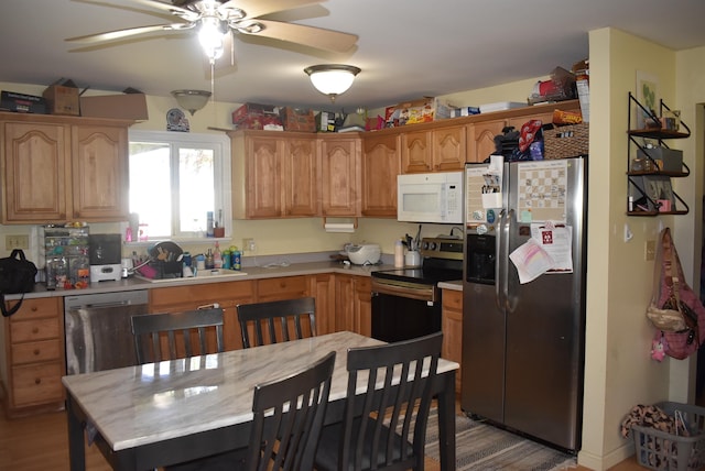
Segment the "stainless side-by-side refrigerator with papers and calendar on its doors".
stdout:
<svg viewBox="0 0 705 471">
<path fill-rule="evenodd" d="M 462 408 L 577 451 L 587 157 L 492 158 L 466 166 Z"/>
</svg>

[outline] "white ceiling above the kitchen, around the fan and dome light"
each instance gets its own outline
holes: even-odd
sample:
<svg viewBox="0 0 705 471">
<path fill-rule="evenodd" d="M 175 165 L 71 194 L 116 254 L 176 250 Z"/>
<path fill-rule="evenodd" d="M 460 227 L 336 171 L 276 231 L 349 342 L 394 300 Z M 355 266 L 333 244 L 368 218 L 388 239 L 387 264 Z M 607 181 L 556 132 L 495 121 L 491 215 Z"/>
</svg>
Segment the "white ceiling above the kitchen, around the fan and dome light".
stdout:
<svg viewBox="0 0 705 471">
<path fill-rule="evenodd" d="M 149 13 L 155 10 L 129 0 L 3 0 L 0 81 L 48 85 L 64 77 L 82 89 L 133 87 L 155 96 L 210 90 L 210 69 L 193 32 L 82 52 L 64 41 L 172 22 Z M 359 41 L 349 53 L 332 54 L 239 35 L 236 66 L 216 72 L 216 100 L 330 109 L 303 69 L 343 63 L 362 72 L 334 110 L 379 108 L 570 69 L 588 56 L 588 31 L 605 26 L 673 50 L 705 45 L 703 0 L 329 0 L 270 18 Z"/>
</svg>

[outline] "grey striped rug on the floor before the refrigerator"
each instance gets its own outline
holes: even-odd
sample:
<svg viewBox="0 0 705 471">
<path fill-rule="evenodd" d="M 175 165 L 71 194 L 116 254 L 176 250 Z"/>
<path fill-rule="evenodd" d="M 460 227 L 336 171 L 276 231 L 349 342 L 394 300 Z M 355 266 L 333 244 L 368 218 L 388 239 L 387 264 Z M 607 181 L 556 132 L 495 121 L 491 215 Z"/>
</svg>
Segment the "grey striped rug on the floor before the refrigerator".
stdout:
<svg viewBox="0 0 705 471">
<path fill-rule="evenodd" d="M 576 458 L 482 421 L 456 416 L 456 470 L 557 471 L 577 467 Z M 431 410 L 426 457 L 438 461 L 438 416 Z"/>
</svg>

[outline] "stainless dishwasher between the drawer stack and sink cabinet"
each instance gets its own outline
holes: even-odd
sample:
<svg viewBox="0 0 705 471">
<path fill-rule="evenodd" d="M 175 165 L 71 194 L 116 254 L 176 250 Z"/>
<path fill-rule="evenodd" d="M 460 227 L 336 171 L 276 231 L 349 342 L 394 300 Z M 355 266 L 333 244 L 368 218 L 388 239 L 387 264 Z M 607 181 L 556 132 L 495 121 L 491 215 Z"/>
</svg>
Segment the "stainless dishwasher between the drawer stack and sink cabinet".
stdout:
<svg viewBox="0 0 705 471">
<path fill-rule="evenodd" d="M 147 289 L 65 296 L 66 374 L 137 364 L 130 318 L 148 305 Z"/>
</svg>

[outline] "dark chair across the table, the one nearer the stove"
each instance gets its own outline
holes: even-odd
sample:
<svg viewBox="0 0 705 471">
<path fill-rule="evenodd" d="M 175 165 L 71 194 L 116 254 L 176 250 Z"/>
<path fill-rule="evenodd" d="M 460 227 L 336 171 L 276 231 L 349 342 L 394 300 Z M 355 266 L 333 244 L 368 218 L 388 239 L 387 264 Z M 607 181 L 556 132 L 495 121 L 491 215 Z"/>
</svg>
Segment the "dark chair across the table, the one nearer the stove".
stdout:
<svg viewBox="0 0 705 471">
<path fill-rule="evenodd" d="M 237 310 L 242 347 L 246 349 L 316 335 L 316 304 L 313 297 L 240 304 Z M 254 342 L 250 340 L 250 329 Z"/>
</svg>

